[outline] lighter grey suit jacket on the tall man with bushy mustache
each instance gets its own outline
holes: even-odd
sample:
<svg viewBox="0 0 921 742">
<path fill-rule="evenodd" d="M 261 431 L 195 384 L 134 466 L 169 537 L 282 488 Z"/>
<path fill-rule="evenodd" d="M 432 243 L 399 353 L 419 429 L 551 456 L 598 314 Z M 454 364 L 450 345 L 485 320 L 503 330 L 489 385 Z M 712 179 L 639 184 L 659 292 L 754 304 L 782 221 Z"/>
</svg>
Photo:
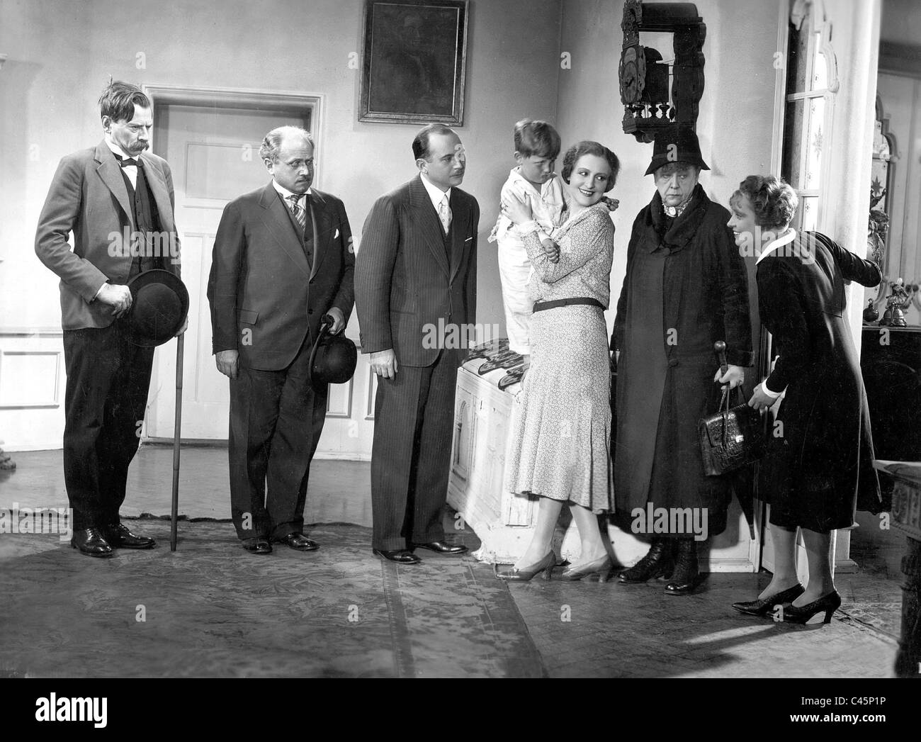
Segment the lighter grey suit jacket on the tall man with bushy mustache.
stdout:
<svg viewBox="0 0 921 742">
<path fill-rule="evenodd" d="M 144 153 L 139 159 L 157 202 L 160 229 L 174 237 L 175 256 L 164 267 L 179 276 L 179 238 L 173 223 L 172 174 L 167 161 Z M 61 277 L 61 324 L 65 330 L 108 327 L 111 307 L 93 301 L 107 280 L 124 284 L 131 270 L 130 250 L 119 247 L 125 230 L 134 231 L 134 210 L 122 168 L 103 139 L 61 160 L 41 209 L 35 253 Z M 74 233 L 71 251 L 67 237 Z M 130 246 L 129 246 L 130 247 Z"/>
</svg>

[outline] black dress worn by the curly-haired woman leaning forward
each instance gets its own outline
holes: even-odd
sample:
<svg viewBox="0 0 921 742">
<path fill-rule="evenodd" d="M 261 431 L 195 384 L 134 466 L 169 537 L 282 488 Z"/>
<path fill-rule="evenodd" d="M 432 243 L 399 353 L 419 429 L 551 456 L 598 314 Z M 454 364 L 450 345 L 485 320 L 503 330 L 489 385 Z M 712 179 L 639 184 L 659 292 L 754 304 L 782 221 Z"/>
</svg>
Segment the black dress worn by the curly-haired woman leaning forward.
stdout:
<svg viewBox="0 0 921 742">
<path fill-rule="evenodd" d="M 758 477 L 771 523 L 825 532 L 852 525 L 857 507 L 880 512 L 867 394 L 845 315 L 845 281 L 880 279 L 875 263 L 818 232 L 758 263 L 758 309 L 776 357 L 765 384 L 787 390 Z"/>
</svg>

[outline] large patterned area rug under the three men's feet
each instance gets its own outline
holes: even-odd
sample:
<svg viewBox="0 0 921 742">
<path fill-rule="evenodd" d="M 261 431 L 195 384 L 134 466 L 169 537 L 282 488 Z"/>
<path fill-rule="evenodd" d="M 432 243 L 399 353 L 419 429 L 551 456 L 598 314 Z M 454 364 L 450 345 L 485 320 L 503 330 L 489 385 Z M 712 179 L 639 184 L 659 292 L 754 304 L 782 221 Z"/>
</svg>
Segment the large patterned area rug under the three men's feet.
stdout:
<svg viewBox="0 0 921 742">
<path fill-rule="evenodd" d="M 420 552 L 381 561 L 370 530 L 309 529 L 319 551 L 239 547 L 226 522 L 129 521 L 157 538 L 113 559 L 57 536 L 0 536 L 0 677 L 542 677 L 492 569 Z"/>
</svg>

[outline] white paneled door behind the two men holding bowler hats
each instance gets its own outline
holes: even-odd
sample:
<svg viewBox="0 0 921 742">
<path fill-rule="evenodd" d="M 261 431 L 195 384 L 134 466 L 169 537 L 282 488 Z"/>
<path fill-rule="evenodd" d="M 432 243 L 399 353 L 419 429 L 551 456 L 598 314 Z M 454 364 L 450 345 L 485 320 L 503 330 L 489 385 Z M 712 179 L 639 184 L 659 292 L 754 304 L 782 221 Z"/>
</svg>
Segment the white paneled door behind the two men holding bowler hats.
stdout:
<svg viewBox="0 0 921 742">
<path fill-rule="evenodd" d="M 265 133 L 283 124 L 310 129 L 316 117 L 309 108 L 279 111 L 258 103 L 237 108 L 228 107 L 227 101 L 222 105 L 194 100 L 163 103 L 156 94 L 154 110 L 154 151 L 167 159 L 173 173 L 182 280 L 190 299 L 183 353 L 181 437 L 226 440 L 229 390 L 227 377 L 217 371 L 211 352 L 207 300 L 217 225 L 228 201 L 269 182 L 259 158 Z M 319 159 L 319 142 L 317 149 Z M 351 327 L 348 334 L 352 336 Z M 369 408 L 367 400 L 371 391 L 368 385 L 373 382 L 369 376 L 367 360 L 359 358 L 356 378 L 331 386 L 318 456 L 370 457 L 373 406 Z M 172 438 L 175 390 L 176 341 L 170 341 L 157 348 L 145 437 Z"/>
</svg>

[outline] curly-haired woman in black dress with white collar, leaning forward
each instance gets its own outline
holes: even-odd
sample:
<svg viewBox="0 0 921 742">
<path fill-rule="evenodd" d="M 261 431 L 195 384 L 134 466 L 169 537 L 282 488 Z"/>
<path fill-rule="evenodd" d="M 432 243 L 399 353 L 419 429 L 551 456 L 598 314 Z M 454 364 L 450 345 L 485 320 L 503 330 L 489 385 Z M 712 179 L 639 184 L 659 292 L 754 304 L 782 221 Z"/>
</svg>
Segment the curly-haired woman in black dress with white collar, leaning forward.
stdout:
<svg viewBox="0 0 921 742">
<path fill-rule="evenodd" d="M 784 620 L 805 623 L 822 612 L 828 623 L 841 605 L 831 531 L 854 524 L 857 507 L 880 510 L 867 395 L 845 314 L 845 281 L 877 286 L 880 268 L 823 234 L 790 229 L 797 195 L 773 176 L 746 178 L 730 206 L 736 243 L 759 255 L 758 310 L 777 356 L 749 405 L 764 410 L 783 396 L 758 478 L 771 503 L 774 577 L 757 600 L 733 607 L 765 616 L 779 604 Z M 809 560 L 805 591 L 798 527 Z"/>
</svg>

